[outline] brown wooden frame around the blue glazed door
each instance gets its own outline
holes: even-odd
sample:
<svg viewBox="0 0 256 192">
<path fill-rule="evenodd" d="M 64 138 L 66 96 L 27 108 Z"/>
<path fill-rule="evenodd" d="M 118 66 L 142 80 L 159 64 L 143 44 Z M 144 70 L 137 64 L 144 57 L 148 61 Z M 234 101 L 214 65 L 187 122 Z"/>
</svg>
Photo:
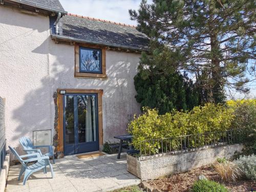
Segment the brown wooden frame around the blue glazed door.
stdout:
<svg viewBox="0 0 256 192">
<path fill-rule="evenodd" d="M 57 89 L 58 95 L 58 147 L 57 151 L 64 155 L 64 133 L 63 133 L 63 95 L 60 94 L 60 90 L 65 90 L 66 93 L 70 94 L 97 94 L 98 98 L 98 133 L 99 133 L 99 149 L 103 146 L 103 124 L 102 124 L 102 95 L 103 90 L 93 90 L 93 89 Z"/>
</svg>

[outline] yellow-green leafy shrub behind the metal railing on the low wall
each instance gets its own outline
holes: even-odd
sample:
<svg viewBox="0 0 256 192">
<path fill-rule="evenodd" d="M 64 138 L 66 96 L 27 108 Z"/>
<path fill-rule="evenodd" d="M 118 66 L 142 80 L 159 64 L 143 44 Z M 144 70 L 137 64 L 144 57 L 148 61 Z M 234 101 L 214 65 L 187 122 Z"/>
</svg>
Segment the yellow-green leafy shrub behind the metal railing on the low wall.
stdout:
<svg viewBox="0 0 256 192">
<path fill-rule="evenodd" d="M 142 148 L 142 153 L 149 152 L 156 153 L 161 150 L 163 146 L 164 151 L 169 151 L 170 147 L 179 148 L 180 142 L 177 140 L 164 140 L 163 145 L 158 141 L 142 142 L 144 140 L 161 139 L 161 138 L 174 138 L 181 135 L 190 135 L 215 131 L 226 131 L 230 128 L 233 119 L 232 111 L 222 105 L 215 105 L 208 103 L 205 106 L 196 106 L 190 112 L 166 113 L 159 115 L 155 109 L 144 108 L 144 113 L 129 124 L 128 131 L 133 135 L 133 145 L 135 148 Z M 200 136 L 197 143 L 190 139 L 190 146 L 199 146 L 203 141 L 213 139 L 213 135 L 209 134 Z M 218 140 L 220 136 L 215 136 Z M 166 142 L 166 143 L 165 143 Z M 168 143 L 168 144 L 167 144 Z M 141 146 L 141 144 L 143 146 Z M 166 149 L 167 147 L 167 149 Z"/>
</svg>

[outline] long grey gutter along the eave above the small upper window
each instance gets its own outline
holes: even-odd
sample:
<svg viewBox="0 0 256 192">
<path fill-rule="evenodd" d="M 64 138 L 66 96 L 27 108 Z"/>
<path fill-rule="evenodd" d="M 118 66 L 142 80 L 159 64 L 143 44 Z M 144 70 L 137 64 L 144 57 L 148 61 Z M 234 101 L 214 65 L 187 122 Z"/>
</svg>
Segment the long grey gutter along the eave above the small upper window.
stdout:
<svg viewBox="0 0 256 192">
<path fill-rule="evenodd" d="M 98 42 L 98 41 L 92 41 L 92 40 L 83 40 L 83 39 L 78 39 L 78 38 L 73 38 L 73 37 L 67 37 L 63 35 L 57 35 L 57 34 L 51 34 L 52 39 L 57 40 L 66 40 L 66 41 L 74 41 L 74 42 L 80 42 L 82 44 L 95 44 L 95 45 L 103 45 L 103 46 L 109 46 L 109 47 L 116 47 L 116 48 L 123 48 L 123 49 L 131 49 L 131 50 L 136 50 L 136 51 L 146 51 L 148 52 L 148 49 L 140 49 L 137 47 L 132 47 L 132 46 L 122 46 L 122 45 L 117 45 L 117 44 L 111 44 L 108 42 Z"/>
</svg>

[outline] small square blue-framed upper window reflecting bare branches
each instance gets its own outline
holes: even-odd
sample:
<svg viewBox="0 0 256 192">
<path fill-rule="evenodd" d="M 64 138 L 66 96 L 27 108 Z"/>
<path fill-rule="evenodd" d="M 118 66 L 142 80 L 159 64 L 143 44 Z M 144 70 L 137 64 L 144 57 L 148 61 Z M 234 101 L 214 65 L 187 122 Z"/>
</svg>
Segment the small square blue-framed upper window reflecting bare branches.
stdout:
<svg viewBox="0 0 256 192">
<path fill-rule="evenodd" d="M 102 73 L 101 49 L 80 47 L 79 71 L 83 73 Z"/>
</svg>

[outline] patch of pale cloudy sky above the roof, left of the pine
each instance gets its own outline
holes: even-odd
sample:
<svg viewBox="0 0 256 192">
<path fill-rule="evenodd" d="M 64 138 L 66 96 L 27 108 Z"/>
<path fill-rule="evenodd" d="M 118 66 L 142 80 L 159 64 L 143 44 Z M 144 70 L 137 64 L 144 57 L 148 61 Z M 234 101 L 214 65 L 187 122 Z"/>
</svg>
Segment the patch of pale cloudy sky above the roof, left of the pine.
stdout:
<svg viewBox="0 0 256 192">
<path fill-rule="evenodd" d="M 60 0 L 63 8 L 69 13 L 130 25 L 136 25 L 136 21 L 130 19 L 128 11 L 138 10 L 140 2 L 141 0 Z"/>
</svg>

